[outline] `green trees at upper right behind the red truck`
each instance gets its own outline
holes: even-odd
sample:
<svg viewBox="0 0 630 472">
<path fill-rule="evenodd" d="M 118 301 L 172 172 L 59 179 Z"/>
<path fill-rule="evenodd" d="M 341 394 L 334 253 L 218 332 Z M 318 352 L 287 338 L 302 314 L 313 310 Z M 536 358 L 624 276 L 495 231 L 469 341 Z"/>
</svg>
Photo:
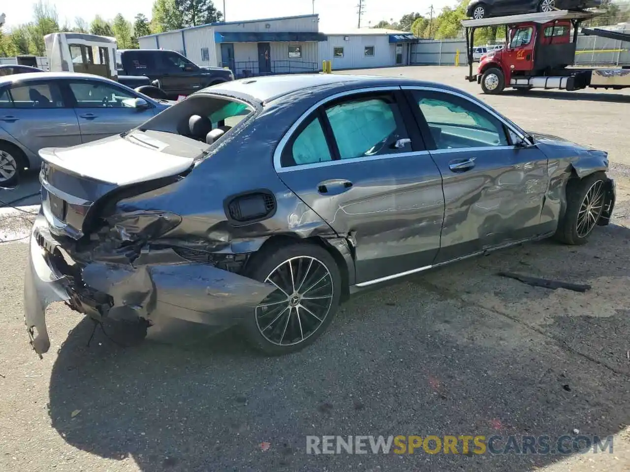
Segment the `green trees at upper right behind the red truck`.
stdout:
<svg viewBox="0 0 630 472">
<path fill-rule="evenodd" d="M 399 31 L 410 31 L 419 38 L 427 39 L 452 39 L 464 38 L 461 21 L 466 20 L 466 8 L 469 0 L 460 0 L 454 6 L 445 6 L 439 12 L 430 14 L 408 13 L 399 21 L 379 21 L 374 28 L 389 28 Z M 600 9 L 604 13 L 593 20 L 585 22 L 584 26 L 616 25 L 630 21 L 630 3 L 602 0 Z M 495 43 L 505 39 L 502 28 L 479 28 L 475 31 L 476 44 Z"/>
</svg>

